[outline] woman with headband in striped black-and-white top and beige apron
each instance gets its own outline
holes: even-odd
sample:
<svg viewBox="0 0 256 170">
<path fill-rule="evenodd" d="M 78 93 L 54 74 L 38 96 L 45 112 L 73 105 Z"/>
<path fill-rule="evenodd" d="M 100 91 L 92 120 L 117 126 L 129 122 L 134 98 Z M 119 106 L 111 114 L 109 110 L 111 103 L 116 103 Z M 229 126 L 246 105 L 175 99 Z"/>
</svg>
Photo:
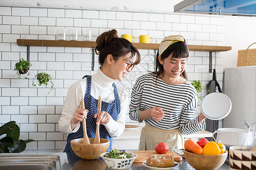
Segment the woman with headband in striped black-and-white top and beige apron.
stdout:
<svg viewBox="0 0 256 170">
<path fill-rule="evenodd" d="M 163 39 L 156 70 L 140 76 L 133 86 L 129 117 L 142 122 L 139 150 L 155 150 L 165 142 L 170 150 L 184 148 L 183 135 L 205 129 L 205 116 L 195 118 L 198 95 L 187 80 L 188 46 L 183 36 Z"/>
</svg>

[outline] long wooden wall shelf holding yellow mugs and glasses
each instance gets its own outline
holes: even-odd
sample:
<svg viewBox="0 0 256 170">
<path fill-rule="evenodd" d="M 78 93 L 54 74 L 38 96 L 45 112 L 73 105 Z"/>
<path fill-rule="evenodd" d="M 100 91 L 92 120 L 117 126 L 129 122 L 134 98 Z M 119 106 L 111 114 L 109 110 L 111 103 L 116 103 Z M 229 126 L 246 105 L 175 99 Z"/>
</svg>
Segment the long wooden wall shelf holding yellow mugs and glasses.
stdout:
<svg viewBox="0 0 256 170">
<path fill-rule="evenodd" d="M 95 41 L 64 41 L 64 40 L 23 40 L 17 39 L 19 46 L 62 46 L 93 48 Z M 158 49 L 160 44 L 132 43 L 137 49 Z M 231 50 L 231 46 L 188 45 L 191 51 L 224 52 Z"/>
</svg>

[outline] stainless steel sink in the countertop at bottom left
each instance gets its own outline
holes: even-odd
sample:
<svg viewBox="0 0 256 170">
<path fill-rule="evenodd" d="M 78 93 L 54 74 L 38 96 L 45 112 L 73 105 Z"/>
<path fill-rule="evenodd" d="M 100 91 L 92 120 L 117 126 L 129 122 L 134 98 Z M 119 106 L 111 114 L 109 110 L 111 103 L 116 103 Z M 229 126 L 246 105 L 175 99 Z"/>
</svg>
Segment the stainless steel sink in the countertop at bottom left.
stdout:
<svg viewBox="0 0 256 170">
<path fill-rule="evenodd" d="M 61 170 L 59 155 L 0 155 L 1 170 Z"/>
</svg>

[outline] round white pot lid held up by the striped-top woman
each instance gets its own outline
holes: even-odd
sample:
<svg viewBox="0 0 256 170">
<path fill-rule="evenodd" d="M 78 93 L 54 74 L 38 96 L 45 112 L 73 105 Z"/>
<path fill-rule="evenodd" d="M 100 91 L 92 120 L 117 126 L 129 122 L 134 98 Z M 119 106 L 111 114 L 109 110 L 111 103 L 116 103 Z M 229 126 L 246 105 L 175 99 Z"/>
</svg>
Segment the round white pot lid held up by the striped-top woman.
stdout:
<svg viewBox="0 0 256 170">
<path fill-rule="evenodd" d="M 220 92 L 213 92 L 204 97 L 201 112 L 210 120 L 221 120 L 228 116 L 232 108 L 229 97 Z"/>
</svg>

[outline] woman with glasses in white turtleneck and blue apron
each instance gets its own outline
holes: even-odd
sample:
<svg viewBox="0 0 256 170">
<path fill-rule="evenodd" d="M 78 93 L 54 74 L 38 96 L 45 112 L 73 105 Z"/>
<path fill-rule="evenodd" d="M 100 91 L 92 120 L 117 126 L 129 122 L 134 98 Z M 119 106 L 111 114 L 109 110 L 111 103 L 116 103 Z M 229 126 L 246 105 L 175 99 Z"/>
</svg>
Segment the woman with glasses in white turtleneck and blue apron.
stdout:
<svg viewBox="0 0 256 170">
<path fill-rule="evenodd" d="M 109 139 L 112 150 L 112 138 L 125 130 L 128 109 L 127 93 L 124 88 L 115 86 L 115 80 L 122 81 L 134 65 L 141 60 L 138 50 L 126 39 L 119 38 L 117 31 L 107 31 L 97 37 L 94 49 L 99 57 L 100 68 L 96 74 L 85 75 L 69 87 L 59 120 L 59 129 L 68 134 L 64 152 L 71 152 L 70 141 L 84 138 L 82 119 L 86 118 L 88 138 L 94 138 L 96 126 L 100 124 L 100 138 Z M 135 57 L 135 55 L 137 57 Z M 98 97 L 101 96 L 101 113 L 97 116 Z M 84 100 L 84 108 L 80 101 Z M 98 117 L 98 118 L 97 118 Z"/>
</svg>

